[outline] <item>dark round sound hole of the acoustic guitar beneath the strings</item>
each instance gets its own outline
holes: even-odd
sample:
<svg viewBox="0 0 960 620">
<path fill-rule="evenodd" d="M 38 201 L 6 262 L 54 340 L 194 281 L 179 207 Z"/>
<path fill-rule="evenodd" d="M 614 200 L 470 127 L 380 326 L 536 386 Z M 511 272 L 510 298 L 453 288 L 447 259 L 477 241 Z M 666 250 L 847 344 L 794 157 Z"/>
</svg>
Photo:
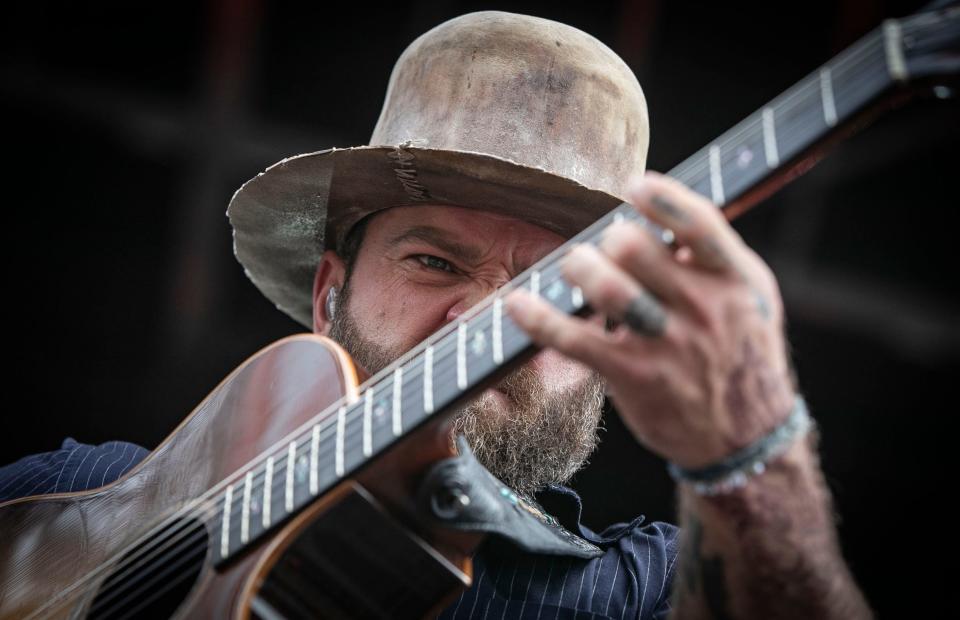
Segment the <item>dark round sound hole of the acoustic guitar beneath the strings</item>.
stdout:
<svg viewBox="0 0 960 620">
<path fill-rule="evenodd" d="M 89 618 L 169 618 L 196 583 L 207 554 L 207 530 L 181 519 L 127 553 L 104 580 Z"/>
</svg>

